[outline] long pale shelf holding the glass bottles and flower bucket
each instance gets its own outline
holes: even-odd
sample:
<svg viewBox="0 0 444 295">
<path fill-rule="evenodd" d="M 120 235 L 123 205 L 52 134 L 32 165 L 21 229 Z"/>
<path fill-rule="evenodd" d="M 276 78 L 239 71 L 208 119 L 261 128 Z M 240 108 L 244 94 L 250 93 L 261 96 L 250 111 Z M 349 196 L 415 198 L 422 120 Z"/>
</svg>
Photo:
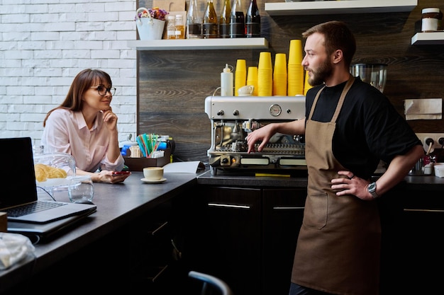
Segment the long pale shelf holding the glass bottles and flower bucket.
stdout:
<svg viewBox="0 0 444 295">
<path fill-rule="evenodd" d="M 128 47 L 136 50 L 231 50 L 231 49 L 265 49 L 268 40 L 256 38 L 215 38 L 215 39 L 182 39 L 182 40 L 133 40 Z"/>
</svg>

